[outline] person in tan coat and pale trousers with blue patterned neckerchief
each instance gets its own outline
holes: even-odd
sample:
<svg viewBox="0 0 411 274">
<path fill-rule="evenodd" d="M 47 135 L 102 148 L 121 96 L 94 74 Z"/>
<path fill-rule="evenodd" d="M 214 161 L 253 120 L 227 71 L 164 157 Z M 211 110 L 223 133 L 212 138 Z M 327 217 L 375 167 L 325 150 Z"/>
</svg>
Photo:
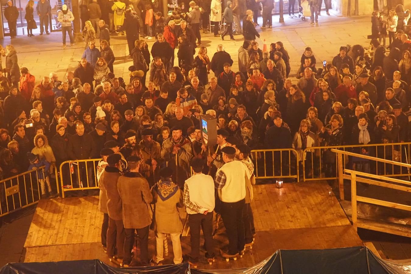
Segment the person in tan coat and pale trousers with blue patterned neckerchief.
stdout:
<svg viewBox="0 0 411 274">
<path fill-rule="evenodd" d="M 169 167 L 160 170 L 160 180 L 151 188 L 154 204 L 151 229 L 155 231 L 156 253 L 150 261 L 151 265 L 162 265 L 164 260 L 164 238 L 170 234 L 173 242 L 174 263 L 182 262 L 180 235 L 182 222 L 178 207 L 182 207 L 182 193 L 178 185 L 171 179 L 173 170 Z"/>
</svg>

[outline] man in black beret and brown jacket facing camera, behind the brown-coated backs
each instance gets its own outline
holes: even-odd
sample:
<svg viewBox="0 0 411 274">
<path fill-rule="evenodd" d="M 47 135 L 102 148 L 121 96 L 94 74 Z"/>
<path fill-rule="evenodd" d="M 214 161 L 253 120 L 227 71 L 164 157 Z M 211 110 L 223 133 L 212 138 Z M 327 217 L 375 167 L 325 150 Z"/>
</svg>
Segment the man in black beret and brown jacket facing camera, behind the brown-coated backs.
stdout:
<svg viewBox="0 0 411 274">
<path fill-rule="evenodd" d="M 137 155 L 142 159 L 140 173 L 145 175 L 150 186 L 158 180 L 159 163 L 161 163 L 161 146 L 153 140 L 154 134 L 153 129 L 143 129 L 141 131 L 142 140 L 136 148 Z"/>
</svg>

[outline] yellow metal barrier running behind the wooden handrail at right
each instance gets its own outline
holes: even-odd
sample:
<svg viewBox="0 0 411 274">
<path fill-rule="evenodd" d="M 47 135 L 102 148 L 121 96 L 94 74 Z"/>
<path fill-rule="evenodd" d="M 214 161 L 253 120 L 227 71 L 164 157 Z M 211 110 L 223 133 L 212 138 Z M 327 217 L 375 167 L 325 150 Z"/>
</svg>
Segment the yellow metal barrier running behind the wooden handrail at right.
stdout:
<svg viewBox="0 0 411 274">
<path fill-rule="evenodd" d="M 411 143 L 390 143 L 390 144 L 369 144 L 369 145 L 340 145 L 340 146 L 328 146 L 328 147 L 307 147 L 303 150 L 303 158 L 306 156 L 308 160 L 302 161 L 303 181 L 312 180 L 333 180 L 337 179 L 337 154 L 331 152 L 332 149 L 338 149 L 345 152 L 361 152 L 362 148 L 365 149 L 365 154 L 377 159 L 394 159 L 400 163 L 410 163 L 410 145 Z M 307 157 L 307 152 L 311 154 L 311 157 Z M 354 164 L 361 168 L 366 165 L 366 169 L 369 169 L 369 173 L 376 175 L 383 175 L 386 177 L 397 176 L 411 176 L 410 168 L 394 167 L 390 163 L 377 162 L 374 160 L 360 160 L 360 157 L 353 158 L 346 155 L 342 158 L 343 166 Z M 308 162 L 307 162 L 308 161 Z M 312 172 L 307 173 L 306 165 L 314 167 Z"/>
</svg>

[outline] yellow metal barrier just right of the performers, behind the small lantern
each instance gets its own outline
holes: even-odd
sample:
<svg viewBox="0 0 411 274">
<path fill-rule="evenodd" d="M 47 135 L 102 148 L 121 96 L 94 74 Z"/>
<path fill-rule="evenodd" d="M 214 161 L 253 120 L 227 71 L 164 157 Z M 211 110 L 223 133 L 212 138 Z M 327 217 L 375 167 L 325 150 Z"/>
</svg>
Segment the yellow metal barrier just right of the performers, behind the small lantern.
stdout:
<svg viewBox="0 0 411 274">
<path fill-rule="evenodd" d="M 255 178 L 296 178 L 300 181 L 299 157 L 296 150 L 252 150 L 251 159 L 254 162 Z"/>
</svg>

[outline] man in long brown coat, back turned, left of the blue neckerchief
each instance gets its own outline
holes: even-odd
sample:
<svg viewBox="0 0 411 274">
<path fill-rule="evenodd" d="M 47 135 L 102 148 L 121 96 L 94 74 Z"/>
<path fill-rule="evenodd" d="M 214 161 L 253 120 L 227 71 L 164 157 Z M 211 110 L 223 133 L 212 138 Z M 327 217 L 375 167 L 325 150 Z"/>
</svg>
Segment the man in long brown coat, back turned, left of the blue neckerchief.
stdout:
<svg viewBox="0 0 411 274">
<path fill-rule="evenodd" d="M 148 265 L 148 233 L 151 223 L 148 204 L 152 195 L 147 180 L 139 173 L 141 159 L 138 156 L 127 158 L 129 171 L 118 178 L 118 193 L 122 201 L 122 220 L 125 228 L 123 266 L 129 267 L 134 233 L 139 238 L 140 260 Z"/>
</svg>

